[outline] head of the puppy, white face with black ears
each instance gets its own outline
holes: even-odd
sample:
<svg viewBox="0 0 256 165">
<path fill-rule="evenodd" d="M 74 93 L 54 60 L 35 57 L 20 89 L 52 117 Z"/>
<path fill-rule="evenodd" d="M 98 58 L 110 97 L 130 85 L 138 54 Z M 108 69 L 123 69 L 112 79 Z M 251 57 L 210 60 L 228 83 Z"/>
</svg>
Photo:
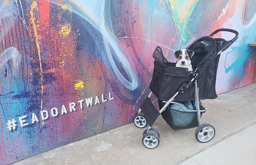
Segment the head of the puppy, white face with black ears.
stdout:
<svg viewBox="0 0 256 165">
<path fill-rule="evenodd" d="M 175 51 L 174 55 L 180 65 L 189 65 L 191 63 L 190 59 L 194 55 L 194 51 L 182 49 Z"/>
</svg>

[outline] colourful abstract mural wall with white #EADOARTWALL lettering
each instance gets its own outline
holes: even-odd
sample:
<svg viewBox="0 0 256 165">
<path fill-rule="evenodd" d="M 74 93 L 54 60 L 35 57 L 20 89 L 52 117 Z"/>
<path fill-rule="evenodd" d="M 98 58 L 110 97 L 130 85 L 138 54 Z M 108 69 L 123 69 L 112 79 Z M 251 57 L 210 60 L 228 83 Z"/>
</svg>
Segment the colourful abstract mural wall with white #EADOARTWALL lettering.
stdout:
<svg viewBox="0 0 256 165">
<path fill-rule="evenodd" d="M 2 0 L 0 164 L 132 122 L 156 46 L 174 61 L 195 39 L 235 29 L 217 93 L 256 82 L 255 10 L 253 0 Z"/>
</svg>

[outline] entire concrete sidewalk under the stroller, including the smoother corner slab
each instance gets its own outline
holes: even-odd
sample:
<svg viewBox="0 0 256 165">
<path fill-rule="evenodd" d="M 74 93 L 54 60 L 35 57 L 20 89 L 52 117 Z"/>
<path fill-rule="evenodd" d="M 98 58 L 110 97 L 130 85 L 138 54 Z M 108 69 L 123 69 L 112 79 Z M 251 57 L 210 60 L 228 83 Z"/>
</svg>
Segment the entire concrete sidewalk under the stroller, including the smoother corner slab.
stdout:
<svg viewBox="0 0 256 165">
<path fill-rule="evenodd" d="M 210 123 L 212 141 L 195 139 L 196 128 L 174 131 L 158 117 L 153 125 L 160 144 L 142 144 L 145 128 L 133 123 L 31 156 L 12 165 L 255 165 L 256 83 L 202 100 L 202 123 Z"/>
</svg>

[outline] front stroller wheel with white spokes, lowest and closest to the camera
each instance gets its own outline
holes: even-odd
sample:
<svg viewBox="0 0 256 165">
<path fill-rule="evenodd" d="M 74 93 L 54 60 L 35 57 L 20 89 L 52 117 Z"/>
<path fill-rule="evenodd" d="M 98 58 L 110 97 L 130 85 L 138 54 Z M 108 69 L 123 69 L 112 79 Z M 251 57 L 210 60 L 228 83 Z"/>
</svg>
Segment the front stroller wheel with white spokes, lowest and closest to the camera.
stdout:
<svg viewBox="0 0 256 165">
<path fill-rule="evenodd" d="M 146 133 L 142 138 L 142 143 L 145 147 L 153 149 L 159 145 L 160 140 L 155 133 Z"/>
</svg>

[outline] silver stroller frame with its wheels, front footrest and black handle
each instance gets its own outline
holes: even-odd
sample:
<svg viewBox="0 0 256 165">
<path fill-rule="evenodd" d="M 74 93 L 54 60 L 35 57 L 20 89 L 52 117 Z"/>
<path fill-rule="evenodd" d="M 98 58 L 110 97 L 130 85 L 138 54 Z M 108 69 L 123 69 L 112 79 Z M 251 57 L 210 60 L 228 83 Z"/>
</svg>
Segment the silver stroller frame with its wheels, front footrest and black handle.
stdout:
<svg viewBox="0 0 256 165">
<path fill-rule="evenodd" d="M 235 34 L 235 37 L 230 41 L 226 41 L 222 38 L 214 39 L 215 42 L 217 42 L 219 45 L 219 47 L 217 47 L 217 49 L 218 49 L 217 55 L 218 56 L 224 50 L 226 50 L 236 39 L 238 39 L 238 35 L 239 35 L 238 32 L 233 29 L 217 29 L 216 31 L 211 33 L 209 36 L 212 37 L 214 34 L 220 32 L 220 31 L 232 32 Z M 164 59 L 164 61 L 167 61 L 167 59 Z M 197 128 L 195 131 L 195 138 L 197 139 L 198 142 L 205 143 L 205 142 L 209 142 L 213 139 L 213 137 L 215 135 L 215 128 L 211 124 L 208 124 L 208 123 L 201 124 L 201 115 L 202 115 L 202 112 L 205 112 L 205 109 L 200 110 L 200 105 L 199 105 L 200 97 L 199 97 L 199 88 L 198 88 L 198 84 L 197 84 L 198 67 L 194 71 L 191 71 L 191 73 L 193 76 L 192 79 L 183 83 L 181 85 L 181 87 L 178 89 L 178 91 L 170 99 L 168 99 L 167 101 L 158 100 L 158 101 L 162 101 L 162 103 L 164 103 L 164 105 L 162 106 L 162 108 L 160 108 L 159 111 L 157 111 L 157 109 L 154 107 L 154 105 L 149 100 L 153 94 L 153 91 L 147 96 L 146 100 L 144 101 L 144 103 L 142 104 L 140 109 L 138 110 L 136 116 L 134 117 L 134 124 L 138 128 L 146 127 L 147 123 L 149 125 L 148 128 L 143 132 L 142 143 L 145 147 L 153 149 L 159 145 L 160 134 L 156 129 L 152 128 L 152 125 L 156 121 L 158 116 L 160 114 L 162 114 L 162 112 L 165 111 L 170 104 L 179 105 L 180 108 L 182 108 L 185 112 L 196 112 L 198 127 L 196 126 Z M 178 94 L 185 93 L 186 90 L 193 84 L 193 82 L 195 84 L 195 92 L 194 93 L 195 93 L 196 109 L 195 110 L 187 110 L 180 103 L 174 102 L 174 100 Z M 215 90 L 215 88 L 214 88 L 214 90 Z M 217 95 L 216 95 L 216 97 L 217 97 Z M 160 107 L 160 104 L 159 104 L 159 107 Z M 142 111 L 142 109 L 143 109 L 143 111 Z M 195 127 L 195 126 L 192 126 L 192 127 Z M 188 128 L 192 128 L 192 127 L 188 127 Z M 186 129 L 186 128 L 181 128 L 181 129 Z"/>
</svg>

